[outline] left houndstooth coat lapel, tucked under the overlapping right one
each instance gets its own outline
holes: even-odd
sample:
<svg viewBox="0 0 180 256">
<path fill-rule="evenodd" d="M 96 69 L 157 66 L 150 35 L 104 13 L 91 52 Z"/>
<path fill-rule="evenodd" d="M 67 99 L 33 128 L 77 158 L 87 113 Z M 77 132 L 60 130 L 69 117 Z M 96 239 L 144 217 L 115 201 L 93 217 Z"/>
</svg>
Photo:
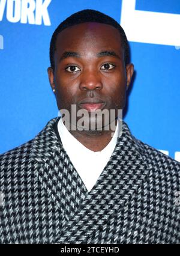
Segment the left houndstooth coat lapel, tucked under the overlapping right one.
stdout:
<svg viewBox="0 0 180 256">
<path fill-rule="evenodd" d="M 53 130 L 57 119 L 49 121 L 35 137 L 31 158 L 36 162 L 38 179 L 68 221 L 85 200 L 88 190 Z"/>
</svg>

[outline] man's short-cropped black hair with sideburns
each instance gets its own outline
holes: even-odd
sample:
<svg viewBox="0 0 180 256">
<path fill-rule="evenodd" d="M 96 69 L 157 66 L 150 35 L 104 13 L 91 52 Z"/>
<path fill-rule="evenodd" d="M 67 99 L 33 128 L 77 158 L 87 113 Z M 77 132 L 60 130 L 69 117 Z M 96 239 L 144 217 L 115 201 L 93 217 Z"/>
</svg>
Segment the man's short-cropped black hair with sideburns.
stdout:
<svg viewBox="0 0 180 256">
<path fill-rule="evenodd" d="M 119 23 L 116 22 L 116 20 L 113 19 L 112 17 L 107 16 L 106 14 L 101 13 L 100 11 L 97 11 L 97 10 L 85 9 L 82 11 L 78 11 L 77 13 L 74 13 L 71 16 L 67 17 L 67 19 L 61 22 L 53 32 L 53 35 L 50 41 L 50 50 L 49 50 L 50 66 L 52 67 L 52 69 L 55 70 L 54 53 L 56 50 L 56 39 L 58 37 L 58 34 L 63 29 L 68 28 L 69 26 L 73 26 L 73 25 L 77 25 L 85 22 L 104 23 L 118 29 L 122 39 L 122 47 L 124 47 L 124 62 L 125 62 L 125 65 L 127 65 L 128 62 L 130 61 L 130 50 L 129 50 L 128 40 L 125 35 L 124 29 L 122 29 L 121 25 L 119 25 Z"/>
</svg>

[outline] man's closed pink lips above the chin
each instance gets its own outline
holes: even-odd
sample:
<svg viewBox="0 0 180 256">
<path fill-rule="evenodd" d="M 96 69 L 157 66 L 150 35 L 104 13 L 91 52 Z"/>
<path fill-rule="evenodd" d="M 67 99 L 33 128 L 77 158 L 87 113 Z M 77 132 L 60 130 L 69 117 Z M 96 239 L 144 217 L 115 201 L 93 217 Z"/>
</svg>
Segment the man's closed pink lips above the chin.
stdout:
<svg viewBox="0 0 180 256">
<path fill-rule="evenodd" d="M 86 109 L 87 111 L 95 111 L 97 109 L 103 109 L 106 102 L 103 102 L 98 98 L 86 98 L 79 102 L 79 107 Z"/>
</svg>

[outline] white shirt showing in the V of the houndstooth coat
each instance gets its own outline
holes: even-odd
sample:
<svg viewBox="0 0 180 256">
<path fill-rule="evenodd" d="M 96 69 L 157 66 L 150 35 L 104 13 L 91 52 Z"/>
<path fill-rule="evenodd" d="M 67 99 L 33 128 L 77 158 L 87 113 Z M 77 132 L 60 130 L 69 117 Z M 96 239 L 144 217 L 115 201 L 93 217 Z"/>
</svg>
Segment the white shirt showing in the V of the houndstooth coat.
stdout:
<svg viewBox="0 0 180 256">
<path fill-rule="evenodd" d="M 115 133 L 109 144 L 107 144 L 103 150 L 97 152 L 89 150 L 89 148 L 86 148 L 83 144 L 77 141 L 65 127 L 62 118 L 60 118 L 58 122 L 58 132 L 62 145 L 70 157 L 74 168 L 78 172 L 80 178 L 82 178 L 88 191 L 90 191 L 115 149 L 118 138 L 118 122 Z"/>
</svg>

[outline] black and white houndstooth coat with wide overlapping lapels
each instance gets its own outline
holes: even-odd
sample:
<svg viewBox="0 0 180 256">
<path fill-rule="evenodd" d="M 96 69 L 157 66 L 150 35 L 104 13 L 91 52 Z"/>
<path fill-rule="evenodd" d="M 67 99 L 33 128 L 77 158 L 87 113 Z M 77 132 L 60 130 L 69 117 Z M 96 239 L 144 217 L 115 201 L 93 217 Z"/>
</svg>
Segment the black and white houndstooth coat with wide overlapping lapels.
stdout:
<svg viewBox="0 0 180 256">
<path fill-rule="evenodd" d="M 180 163 L 134 138 L 123 122 L 88 192 L 57 138 L 57 122 L 0 156 L 0 243 L 180 242 Z"/>
</svg>

